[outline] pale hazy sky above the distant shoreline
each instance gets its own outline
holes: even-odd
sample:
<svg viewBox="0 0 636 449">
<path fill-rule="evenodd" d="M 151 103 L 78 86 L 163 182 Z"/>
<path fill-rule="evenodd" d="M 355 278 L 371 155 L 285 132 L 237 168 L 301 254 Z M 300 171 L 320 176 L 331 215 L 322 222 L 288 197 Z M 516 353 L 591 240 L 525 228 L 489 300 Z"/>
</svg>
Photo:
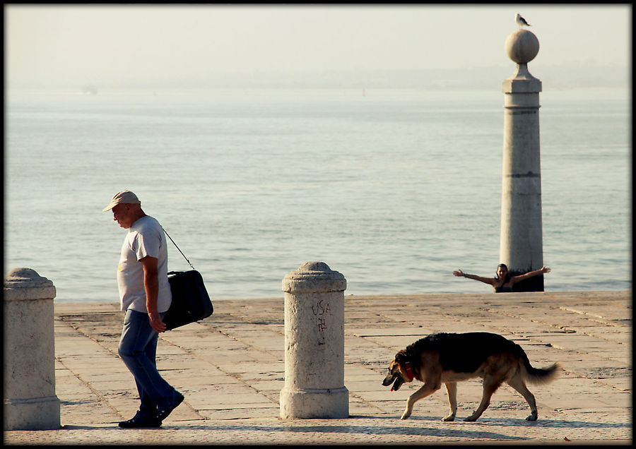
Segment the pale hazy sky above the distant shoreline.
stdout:
<svg viewBox="0 0 636 449">
<path fill-rule="evenodd" d="M 630 5 L 4 5 L 12 87 L 126 85 L 227 74 L 514 65 L 521 13 L 538 66 L 631 66 Z"/>
</svg>

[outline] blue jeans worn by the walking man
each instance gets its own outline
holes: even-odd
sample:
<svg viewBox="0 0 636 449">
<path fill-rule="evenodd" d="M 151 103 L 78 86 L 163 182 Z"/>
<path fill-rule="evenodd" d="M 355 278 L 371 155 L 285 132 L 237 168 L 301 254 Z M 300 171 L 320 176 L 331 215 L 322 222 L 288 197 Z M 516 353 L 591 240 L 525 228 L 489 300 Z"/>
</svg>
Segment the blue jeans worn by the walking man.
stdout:
<svg viewBox="0 0 636 449">
<path fill-rule="evenodd" d="M 161 318 L 165 313 L 160 313 Z M 124 317 L 122 338 L 119 340 L 119 356 L 135 378 L 141 399 L 138 414 L 142 419 L 151 418 L 157 407 L 170 406 L 179 393 L 157 371 L 155 357 L 159 334 L 150 325 L 148 313 L 128 309 Z"/>
</svg>

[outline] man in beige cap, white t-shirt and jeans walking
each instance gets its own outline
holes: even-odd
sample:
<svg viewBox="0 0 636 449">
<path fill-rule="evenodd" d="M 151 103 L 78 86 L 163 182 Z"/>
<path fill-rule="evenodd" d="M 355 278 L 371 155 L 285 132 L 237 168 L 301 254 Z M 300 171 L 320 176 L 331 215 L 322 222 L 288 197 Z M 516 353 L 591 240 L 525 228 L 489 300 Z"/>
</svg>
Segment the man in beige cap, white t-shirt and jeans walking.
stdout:
<svg viewBox="0 0 636 449">
<path fill-rule="evenodd" d="M 165 331 L 163 316 L 172 301 L 165 233 L 157 220 L 143 212 L 131 191 L 113 196 L 104 212 L 108 210 L 120 227 L 128 229 L 117 267 L 119 299 L 126 311 L 118 349 L 141 400 L 135 416 L 119 426 L 159 427 L 184 399 L 160 376 L 155 361 L 159 333 Z"/>
</svg>

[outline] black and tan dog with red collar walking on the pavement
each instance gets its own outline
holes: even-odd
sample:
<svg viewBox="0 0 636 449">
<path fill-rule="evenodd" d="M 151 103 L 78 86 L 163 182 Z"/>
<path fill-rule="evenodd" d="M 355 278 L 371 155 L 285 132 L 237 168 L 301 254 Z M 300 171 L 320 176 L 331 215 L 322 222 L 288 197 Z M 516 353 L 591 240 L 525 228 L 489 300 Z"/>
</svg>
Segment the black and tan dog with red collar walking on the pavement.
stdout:
<svg viewBox="0 0 636 449">
<path fill-rule="evenodd" d="M 457 382 L 483 378 L 481 404 L 464 421 L 476 421 L 490 405 L 490 397 L 504 382 L 517 390 L 530 405 L 528 421 L 536 421 L 534 395 L 526 387 L 529 383 L 547 383 L 558 373 L 558 364 L 545 369 L 530 365 L 524 349 L 501 335 L 485 332 L 452 334 L 438 333 L 422 338 L 401 349 L 389 364 L 389 375 L 382 385 L 393 383 L 398 390 L 413 379 L 422 381 L 422 388 L 406 400 L 401 419 L 413 412 L 413 404 L 446 385 L 450 414 L 442 421 L 453 421 L 457 413 Z"/>
</svg>

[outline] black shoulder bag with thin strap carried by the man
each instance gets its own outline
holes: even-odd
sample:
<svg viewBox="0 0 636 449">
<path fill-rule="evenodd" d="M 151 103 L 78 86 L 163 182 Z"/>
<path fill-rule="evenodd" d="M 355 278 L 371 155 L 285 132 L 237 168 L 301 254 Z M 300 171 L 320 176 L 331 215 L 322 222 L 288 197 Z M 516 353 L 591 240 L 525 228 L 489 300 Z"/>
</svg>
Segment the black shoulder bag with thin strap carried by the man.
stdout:
<svg viewBox="0 0 636 449">
<path fill-rule="evenodd" d="M 165 229 L 163 232 L 165 232 Z M 165 235 L 172 241 L 172 244 L 177 246 L 167 232 L 165 232 Z M 172 304 L 170 304 L 170 309 L 167 309 L 165 316 L 163 316 L 165 330 L 172 330 L 182 325 L 203 320 L 211 316 L 214 311 L 201 273 L 194 269 L 192 263 L 188 261 L 185 254 L 179 249 L 179 246 L 177 246 L 177 249 L 188 265 L 192 267 L 192 270 L 170 271 L 167 274 L 168 282 L 170 282 L 170 291 L 172 292 Z"/>
</svg>

